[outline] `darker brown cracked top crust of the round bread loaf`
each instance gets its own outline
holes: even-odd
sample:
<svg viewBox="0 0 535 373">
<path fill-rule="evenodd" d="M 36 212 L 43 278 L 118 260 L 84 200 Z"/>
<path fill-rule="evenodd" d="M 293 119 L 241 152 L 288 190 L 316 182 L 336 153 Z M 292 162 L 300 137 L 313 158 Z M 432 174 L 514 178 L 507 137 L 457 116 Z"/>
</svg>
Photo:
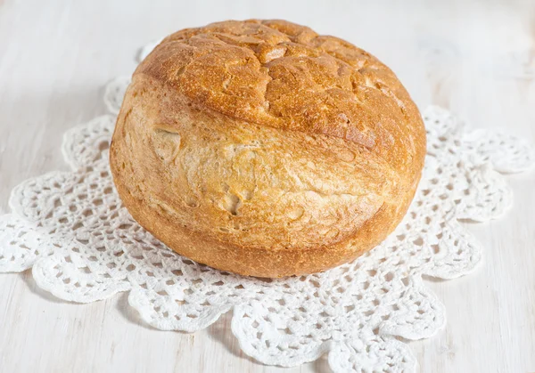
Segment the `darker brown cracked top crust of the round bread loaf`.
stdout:
<svg viewBox="0 0 535 373">
<path fill-rule="evenodd" d="M 165 38 L 136 74 L 229 118 L 354 142 L 406 185 L 419 178 L 416 105 L 391 69 L 340 38 L 284 20 L 212 23 Z"/>
</svg>

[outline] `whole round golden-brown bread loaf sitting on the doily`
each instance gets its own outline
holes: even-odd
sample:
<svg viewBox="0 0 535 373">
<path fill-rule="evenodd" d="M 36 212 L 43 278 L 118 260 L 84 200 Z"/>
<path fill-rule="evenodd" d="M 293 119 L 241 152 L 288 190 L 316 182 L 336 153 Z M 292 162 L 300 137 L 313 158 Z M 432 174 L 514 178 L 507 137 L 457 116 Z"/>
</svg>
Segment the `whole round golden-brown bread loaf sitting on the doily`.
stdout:
<svg viewBox="0 0 535 373">
<path fill-rule="evenodd" d="M 362 255 L 399 224 L 424 165 L 398 78 L 284 20 L 186 28 L 139 65 L 110 162 L 130 214 L 227 272 L 282 277 Z"/>
</svg>

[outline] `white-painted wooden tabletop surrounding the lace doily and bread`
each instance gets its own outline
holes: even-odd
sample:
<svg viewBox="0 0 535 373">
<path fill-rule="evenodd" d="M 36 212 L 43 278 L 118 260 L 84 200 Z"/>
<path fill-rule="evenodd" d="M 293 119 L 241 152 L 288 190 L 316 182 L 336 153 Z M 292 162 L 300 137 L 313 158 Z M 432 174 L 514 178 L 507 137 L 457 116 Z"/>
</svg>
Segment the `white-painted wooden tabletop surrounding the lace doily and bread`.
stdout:
<svg viewBox="0 0 535 373">
<path fill-rule="evenodd" d="M 194 3 L 194 4 L 193 4 Z M 0 0 L 0 207 L 12 187 L 67 169 L 62 133 L 104 112 L 103 84 L 135 68 L 144 43 L 215 20 L 283 18 L 377 55 L 422 107 L 535 143 L 535 2 Z M 506 217 L 470 229 L 484 261 L 428 283 L 448 310 L 438 336 L 411 343 L 422 372 L 535 371 L 535 173 L 510 178 Z M 0 275 L 0 372 L 324 372 L 325 359 L 264 367 L 223 317 L 195 334 L 147 327 L 125 295 L 64 303 L 30 272 Z"/>
</svg>

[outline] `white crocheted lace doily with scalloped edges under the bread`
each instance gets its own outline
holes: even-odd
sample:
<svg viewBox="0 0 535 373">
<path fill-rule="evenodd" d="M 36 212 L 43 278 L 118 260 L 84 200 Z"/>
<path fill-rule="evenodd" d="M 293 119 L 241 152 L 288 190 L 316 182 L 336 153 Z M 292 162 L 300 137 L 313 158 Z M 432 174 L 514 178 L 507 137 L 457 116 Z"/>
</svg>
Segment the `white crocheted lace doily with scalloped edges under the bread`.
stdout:
<svg viewBox="0 0 535 373">
<path fill-rule="evenodd" d="M 150 48 L 149 48 L 150 49 Z M 409 340 L 431 337 L 444 307 L 422 275 L 470 272 L 481 248 L 458 223 L 502 215 L 512 196 L 499 172 L 534 163 L 506 134 L 473 131 L 448 111 L 424 110 L 428 153 L 405 220 L 382 245 L 325 273 L 259 280 L 193 263 L 144 231 L 111 181 L 108 146 L 128 78 L 111 82 L 111 115 L 65 134 L 71 172 L 53 172 L 12 191 L 0 216 L 0 272 L 32 268 L 37 285 L 88 303 L 129 291 L 129 304 L 155 328 L 193 332 L 233 312 L 243 352 L 284 367 L 328 353 L 335 372 L 413 371 Z"/>
</svg>

